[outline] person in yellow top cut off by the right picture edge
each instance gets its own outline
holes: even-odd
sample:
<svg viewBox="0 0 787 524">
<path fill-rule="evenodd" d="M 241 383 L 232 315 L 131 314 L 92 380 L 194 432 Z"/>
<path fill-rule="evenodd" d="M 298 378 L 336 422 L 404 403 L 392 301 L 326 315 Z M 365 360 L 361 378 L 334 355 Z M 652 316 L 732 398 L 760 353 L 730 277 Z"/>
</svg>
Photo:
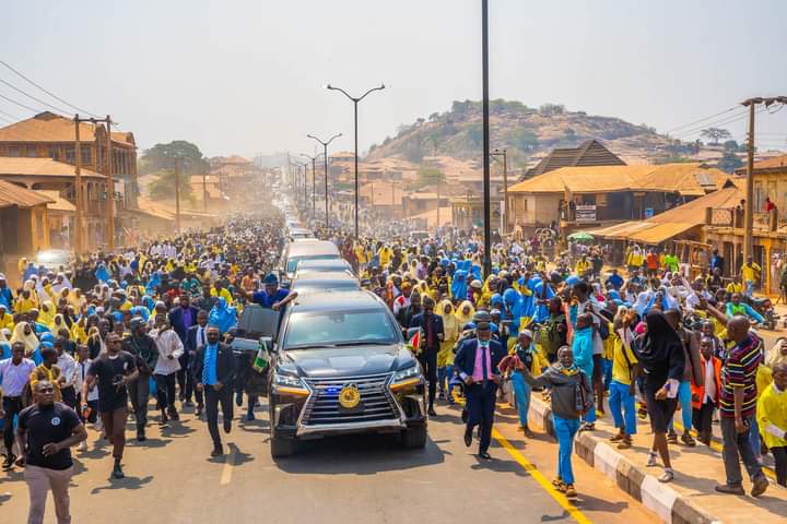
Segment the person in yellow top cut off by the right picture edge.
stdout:
<svg viewBox="0 0 787 524">
<path fill-rule="evenodd" d="M 773 383 L 760 395 L 756 418 L 776 461 L 776 483 L 787 487 L 787 364 L 774 366 Z"/>
</svg>

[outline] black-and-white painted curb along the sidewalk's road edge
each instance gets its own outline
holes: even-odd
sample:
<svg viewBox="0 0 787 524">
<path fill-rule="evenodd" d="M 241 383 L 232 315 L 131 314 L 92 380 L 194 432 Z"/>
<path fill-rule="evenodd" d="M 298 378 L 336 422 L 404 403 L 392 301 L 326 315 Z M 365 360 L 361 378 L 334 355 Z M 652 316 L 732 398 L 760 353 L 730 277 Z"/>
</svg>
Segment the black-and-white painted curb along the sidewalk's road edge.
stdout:
<svg viewBox="0 0 787 524">
<path fill-rule="evenodd" d="M 552 409 L 536 395 L 530 397 L 528 420 L 554 437 Z M 615 451 L 598 437 L 579 433 L 574 441 L 575 453 L 588 465 L 603 473 L 615 485 L 656 513 L 668 524 L 717 524 L 720 519 L 708 514 L 688 497 L 658 479 Z"/>
</svg>

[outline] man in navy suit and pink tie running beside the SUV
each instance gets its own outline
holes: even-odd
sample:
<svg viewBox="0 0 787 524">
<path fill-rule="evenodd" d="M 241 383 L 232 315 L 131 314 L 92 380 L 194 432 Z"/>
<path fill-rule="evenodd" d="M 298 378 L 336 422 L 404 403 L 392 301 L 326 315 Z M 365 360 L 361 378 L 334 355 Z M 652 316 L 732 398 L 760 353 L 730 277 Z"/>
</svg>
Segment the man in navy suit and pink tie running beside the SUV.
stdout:
<svg viewBox="0 0 787 524">
<path fill-rule="evenodd" d="M 490 460 L 488 450 L 492 441 L 495 398 L 497 385 L 502 377 L 497 365 L 505 357 L 505 349 L 492 338 L 489 313 L 481 311 L 473 319 L 477 338 L 468 338 L 459 345 L 454 369 L 465 381 L 465 398 L 467 401 L 468 420 L 465 428 L 465 445 L 472 444 L 472 430 L 481 426 L 481 443 L 479 456 Z"/>
</svg>

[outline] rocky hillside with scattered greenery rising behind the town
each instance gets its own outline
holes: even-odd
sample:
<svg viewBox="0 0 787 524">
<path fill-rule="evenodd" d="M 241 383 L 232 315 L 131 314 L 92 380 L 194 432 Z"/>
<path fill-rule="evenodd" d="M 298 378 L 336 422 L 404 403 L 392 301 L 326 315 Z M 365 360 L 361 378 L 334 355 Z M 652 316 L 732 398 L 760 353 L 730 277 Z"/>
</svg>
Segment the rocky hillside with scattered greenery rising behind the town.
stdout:
<svg viewBox="0 0 787 524">
<path fill-rule="evenodd" d="M 519 102 L 490 102 L 491 146 L 506 147 L 513 165 L 554 147 L 575 147 L 588 139 L 600 140 L 623 157 L 656 158 L 670 154 L 673 143 L 647 126 L 620 118 L 569 111 L 555 104 L 531 108 Z M 482 142 L 481 103 L 454 102 L 449 111 L 419 118 L 401 126 L 395 138 L 369 148 L 368 159 L 404 158 L 420 163 L 426 156 L 478 158 Z"/>
</svg>

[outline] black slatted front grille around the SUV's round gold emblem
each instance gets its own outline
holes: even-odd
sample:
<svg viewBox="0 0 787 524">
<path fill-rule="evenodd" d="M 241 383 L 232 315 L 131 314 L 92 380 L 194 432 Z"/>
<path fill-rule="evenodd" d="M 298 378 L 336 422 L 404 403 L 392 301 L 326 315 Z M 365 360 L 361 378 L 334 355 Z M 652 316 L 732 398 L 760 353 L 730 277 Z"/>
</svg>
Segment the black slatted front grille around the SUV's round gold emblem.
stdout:
<svg viewBox="0 0 787 524">
<path fill-rule="evenodd" d="M 388 393 L 390 374 L 344 377 L 337 379 L 304 379 L 314 395 L 304 407 L 302 424 L 368 422 L 398 419 L 399 410 Z M 361 393 L 363 409 L 348 412 L 339 405 L 339 392 L 346 384 L 355 384 Z"/>
</svg>

